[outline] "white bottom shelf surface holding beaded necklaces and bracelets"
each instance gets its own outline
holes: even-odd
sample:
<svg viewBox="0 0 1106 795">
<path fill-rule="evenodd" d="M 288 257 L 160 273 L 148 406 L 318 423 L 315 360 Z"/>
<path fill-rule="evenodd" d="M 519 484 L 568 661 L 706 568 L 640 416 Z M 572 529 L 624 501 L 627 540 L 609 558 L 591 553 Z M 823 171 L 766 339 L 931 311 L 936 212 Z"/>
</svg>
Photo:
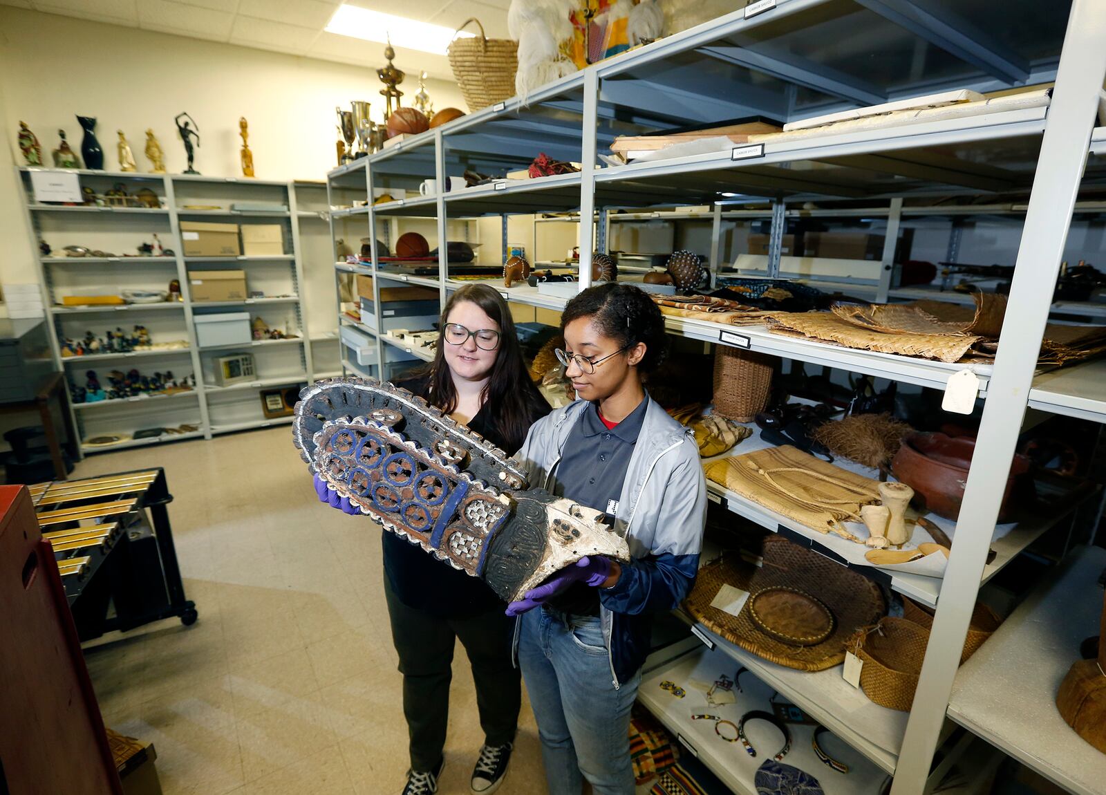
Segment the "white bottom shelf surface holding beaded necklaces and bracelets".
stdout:
<svg viewBox="0 0 1106 795">
<path fill-rule="evenodd" d="M 737 662 L 729 656 L 717 649 L 710 651 L 703 647 L 701 651 L 680 657 L 643 678 L 638 701 L 657 715 L 671 733 L 680 734 L 693 746 L 699 761 L 734 793 L 754 795 L 753 776 L 757 768 L 780 750 L 779 730 L 766 721 L 749 721 L 745 724 L 749 742 L 757 750 L 754 759 L 744 751 L 741 743 L 729 743 L 720 739 L 714 733 L 714 721 L 691 720 L 692 714 L 712 714 L 737 723 L 741 715 L 750 710 L 772 711 L 770 699 L 775 692 L 774 688 L 762 682 L 751 671 L 741 674 L 740 692 L 737 687 L 733 688 L 734 703 L 721 707 L 711 707 L 707 703 L 706 691 L 714 680 L 723 673 L 733 679 L 737 670 Z M 687 694 L 679 699 L 662 690 L 660 682 L 665 680 L 676 682 Z M 783 757 L 784 764 L 799 767 L 817 778 L 826 795 L 879 792 L 887 774 L 841 738 L 823 734 L 820 744 L 832 757 L 848 765 L 847 774 L 831 770 L 814 754 L 811 745 L 813 725 L 790 724 L 789 729 L 791 751 Z M 727 730 L 732 734 L 733 730 L 728 726 L 722 731 Z M 681 745 L 680 753 L 690 753 L 687 745 Z"/>
</svg>

